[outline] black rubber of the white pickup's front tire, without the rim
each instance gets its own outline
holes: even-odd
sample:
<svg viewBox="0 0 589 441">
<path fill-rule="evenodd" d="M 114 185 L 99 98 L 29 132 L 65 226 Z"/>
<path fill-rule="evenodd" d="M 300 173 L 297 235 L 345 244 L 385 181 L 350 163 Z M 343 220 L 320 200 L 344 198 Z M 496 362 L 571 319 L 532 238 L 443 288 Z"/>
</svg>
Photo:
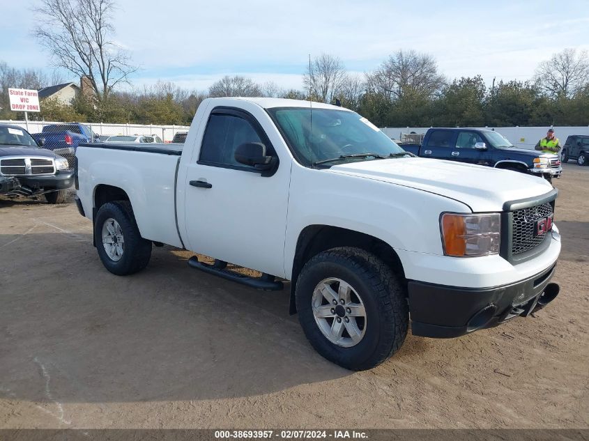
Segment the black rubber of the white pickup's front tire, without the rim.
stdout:
<svg viewBox="0 0 589 441">
<path fill-rule="evenodd" d="M 330 277 L 346 281 L 364 304 L 365 334 L 355 346 L 332 343 L 315 321 L 314 289 Z M 300 272 L 295 294 L 300 325 L 309 342 L 323 357 L 346 369 L 362 371 L 381 364 L 401 348 L 407 335 L 406 289 L 383 261 L 362 249 L 333 248 L 311 258 Z"/>
</svg>

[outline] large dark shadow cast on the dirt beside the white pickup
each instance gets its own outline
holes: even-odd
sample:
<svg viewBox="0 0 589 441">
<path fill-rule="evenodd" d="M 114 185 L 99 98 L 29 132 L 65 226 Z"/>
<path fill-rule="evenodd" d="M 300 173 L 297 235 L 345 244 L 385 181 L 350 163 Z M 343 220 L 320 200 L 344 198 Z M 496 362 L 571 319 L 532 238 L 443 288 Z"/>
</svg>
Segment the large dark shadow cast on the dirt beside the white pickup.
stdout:
<svg viewBox="0 0 589 441">
<path fill-rule="evenodd" d="M 229 398 L 352 374 L 307 343 L 288 314 L 288 287 L 256 291 L 191 270 L 171 247 L 117 277 L 91 235 L 71 239 L 0 235 L 4 399 Z"/>
</svg>

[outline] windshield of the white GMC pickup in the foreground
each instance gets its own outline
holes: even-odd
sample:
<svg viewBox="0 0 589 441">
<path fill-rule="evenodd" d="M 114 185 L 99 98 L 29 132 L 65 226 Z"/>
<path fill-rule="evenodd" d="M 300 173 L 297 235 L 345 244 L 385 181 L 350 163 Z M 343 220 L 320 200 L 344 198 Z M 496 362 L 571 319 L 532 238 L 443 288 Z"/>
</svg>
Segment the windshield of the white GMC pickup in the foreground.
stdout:
<svg viewBox="0 0 589 441">
<path fill-rule="evenodd" d="M 375 125 L 353 111 L 288 107 L 268 109 L 280 127 L 297 160 L 309 167 L 332 160 L 325 167 L 349 161 L 374 159 L 374 156 L 346 157 L 374 153 L 387 157 L 404 153 Z"/>
</svg>

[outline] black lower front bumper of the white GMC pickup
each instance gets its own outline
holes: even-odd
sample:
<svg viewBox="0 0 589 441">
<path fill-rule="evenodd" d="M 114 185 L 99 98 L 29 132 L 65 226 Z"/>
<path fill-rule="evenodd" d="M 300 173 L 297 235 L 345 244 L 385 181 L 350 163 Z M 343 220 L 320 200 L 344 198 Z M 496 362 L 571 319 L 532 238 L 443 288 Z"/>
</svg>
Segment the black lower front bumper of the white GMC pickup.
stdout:
<svg viewBox="0 0 589 441">
<path fill-rule="evenodd" d="M 452 338 L 528 316 L 558 295 L 556 263 L 533 277 L 494 288 L 459 288 L 409 281 L 413 335 Z"/>
</svg>

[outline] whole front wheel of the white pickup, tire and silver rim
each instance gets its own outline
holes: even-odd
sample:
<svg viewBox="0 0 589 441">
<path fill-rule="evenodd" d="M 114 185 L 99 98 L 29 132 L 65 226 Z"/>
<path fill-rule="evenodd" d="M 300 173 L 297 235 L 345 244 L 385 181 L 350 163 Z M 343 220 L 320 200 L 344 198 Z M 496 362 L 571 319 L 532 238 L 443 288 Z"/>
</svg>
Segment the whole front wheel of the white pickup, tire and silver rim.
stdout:
<svg viewBox="0 0 589 441">
<path fill-rule="evenodd" d="M 371 369 L 405 340 L 406 290 L 374 254 L 342 247 L 311 258 L 296 282 L 307 339 L 326 359 L 353 371 Z"/>
</svg>

